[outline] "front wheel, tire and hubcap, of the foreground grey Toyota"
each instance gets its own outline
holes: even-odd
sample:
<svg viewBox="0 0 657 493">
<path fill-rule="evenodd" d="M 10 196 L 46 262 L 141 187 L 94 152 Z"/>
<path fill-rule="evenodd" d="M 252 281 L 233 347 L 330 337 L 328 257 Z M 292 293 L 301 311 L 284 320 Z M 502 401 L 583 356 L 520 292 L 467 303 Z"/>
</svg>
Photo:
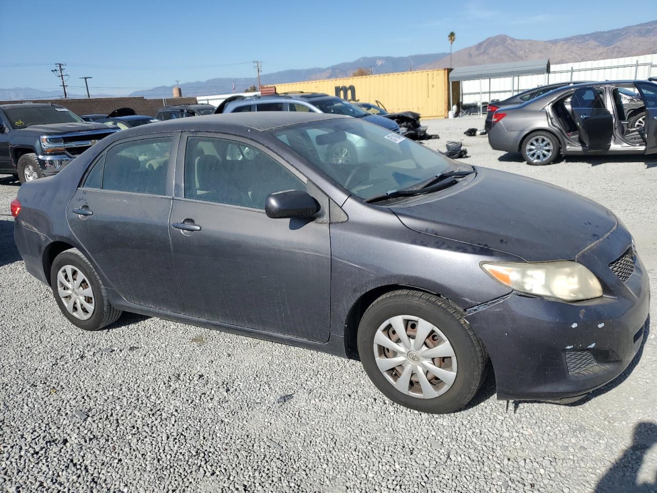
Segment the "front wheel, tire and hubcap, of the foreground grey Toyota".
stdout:
<svg viewBox="0 0 657 493">
<path fill-rule="evenodd" d="M 357 340 L 371 381 L 406 408 L 453 413 L 484 381 L 482 342 L 458 310 L 433 294 L 384 294 L 363 315 Z"/>
</svg>

